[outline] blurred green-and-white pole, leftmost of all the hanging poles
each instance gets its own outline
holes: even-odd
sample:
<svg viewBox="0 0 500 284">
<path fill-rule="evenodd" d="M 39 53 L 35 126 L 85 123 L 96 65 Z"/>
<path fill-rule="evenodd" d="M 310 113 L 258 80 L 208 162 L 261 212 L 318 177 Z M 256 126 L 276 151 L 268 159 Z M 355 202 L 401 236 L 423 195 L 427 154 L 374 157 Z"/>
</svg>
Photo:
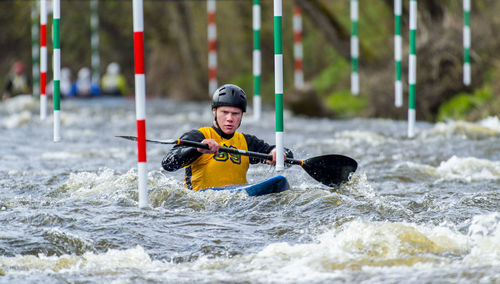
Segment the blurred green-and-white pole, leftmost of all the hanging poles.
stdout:
<svg viewBox="0 0 500 284">
<path fill-rule="evenodd" d="M 31 2 L 31 62 L 32 62 L 32 78 L 33 78 L 33 96 L 40 95 L 40 32 L 38 26 L 38 1 Z"/>
</svg>

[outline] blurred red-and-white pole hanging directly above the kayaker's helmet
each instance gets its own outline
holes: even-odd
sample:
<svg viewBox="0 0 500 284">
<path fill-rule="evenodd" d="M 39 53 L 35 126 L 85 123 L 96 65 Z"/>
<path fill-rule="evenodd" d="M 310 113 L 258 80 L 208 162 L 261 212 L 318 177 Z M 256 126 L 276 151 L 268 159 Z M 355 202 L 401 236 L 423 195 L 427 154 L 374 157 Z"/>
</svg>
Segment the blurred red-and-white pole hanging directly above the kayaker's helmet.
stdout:
<svg viewBox="0 0 500 284">
<path fill-rule="evenodd" d="M 208 93 L 217 89 L 217 27 L 215 25 L 215 0 L 207 1 L 208 15 Z"/>
</svg>

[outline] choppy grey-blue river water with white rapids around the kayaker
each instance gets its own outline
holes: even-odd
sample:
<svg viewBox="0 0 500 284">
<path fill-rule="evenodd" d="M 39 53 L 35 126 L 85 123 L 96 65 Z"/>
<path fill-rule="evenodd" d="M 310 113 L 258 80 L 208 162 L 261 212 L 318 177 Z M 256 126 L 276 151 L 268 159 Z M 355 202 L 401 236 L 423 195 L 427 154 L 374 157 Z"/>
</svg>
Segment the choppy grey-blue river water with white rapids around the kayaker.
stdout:
<svg viewBox="0 0 500 284">
<path fill-rule="evenodd" d="M 299 166 L 262 197 L 191 192 L 148 144 L 139 209 L 135 102 L 63 100 L 62 141 L 31 97 L 0 105 L 0 282 L 500 283 L 500 122 L 328 120 L 285 113 L 295 157 L 356 159 L 328 188 Z M 51 112 L 49 112 L 51 113 Z M 147 136 L 210 123 L 208 103 L 147 102 Z M 274 141 L 274 113 L 241 129 Z M 223 174 L 223 173 L 221 173 Z M 257 165 L 250 182 L 276 175 Z"/>
</svg>

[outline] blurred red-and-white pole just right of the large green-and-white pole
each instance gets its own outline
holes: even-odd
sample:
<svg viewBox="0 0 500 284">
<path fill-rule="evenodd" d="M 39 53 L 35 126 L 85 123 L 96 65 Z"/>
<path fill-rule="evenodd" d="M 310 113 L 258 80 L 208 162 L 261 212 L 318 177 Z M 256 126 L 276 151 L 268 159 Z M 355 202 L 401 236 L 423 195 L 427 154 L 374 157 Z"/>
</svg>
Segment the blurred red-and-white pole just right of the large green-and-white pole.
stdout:
<svg viewBox="0 0 500 284">
<path fill-rule="evenodd" d="M 293 8 L 293 58 L 294 58 L 294 85 L 296 89 L 304 88 L 304 68 L 302 65 L 302 10 Z"/>
</svg>

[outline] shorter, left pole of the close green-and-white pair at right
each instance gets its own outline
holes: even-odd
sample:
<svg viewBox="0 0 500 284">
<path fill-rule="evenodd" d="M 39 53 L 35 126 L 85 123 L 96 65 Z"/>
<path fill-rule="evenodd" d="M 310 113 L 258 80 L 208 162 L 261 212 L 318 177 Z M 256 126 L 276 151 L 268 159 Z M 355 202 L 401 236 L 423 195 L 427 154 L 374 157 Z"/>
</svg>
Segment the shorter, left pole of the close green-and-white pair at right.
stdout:
<svg viewBox="0 0 500 284">
<path fill-rule="evenodd" d="M 394 61 L 396 62 L 396 81 L 394 82 L 394 105 L 403 106 L 403 82 L 401 81 L 401 59 L 403 40 L 401 38 L 402 0 L 394 0 Z"/>
</svg>

